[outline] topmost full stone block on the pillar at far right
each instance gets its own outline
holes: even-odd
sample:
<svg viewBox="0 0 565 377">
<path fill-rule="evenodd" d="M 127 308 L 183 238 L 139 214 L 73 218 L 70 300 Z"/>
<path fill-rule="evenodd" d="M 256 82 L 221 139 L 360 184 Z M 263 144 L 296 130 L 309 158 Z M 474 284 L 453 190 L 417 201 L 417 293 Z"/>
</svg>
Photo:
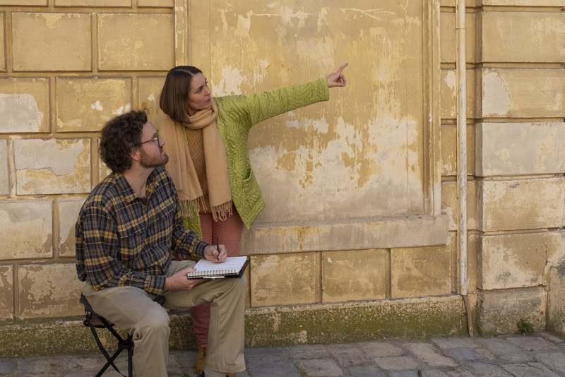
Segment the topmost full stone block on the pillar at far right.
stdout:
<svg viewBox="0 0 565 377">
<path fill-rule="evenodd" d="M 480 19 L 483 62 L 565 61 L 565 13 L 482 12 Z"/>
</svg>

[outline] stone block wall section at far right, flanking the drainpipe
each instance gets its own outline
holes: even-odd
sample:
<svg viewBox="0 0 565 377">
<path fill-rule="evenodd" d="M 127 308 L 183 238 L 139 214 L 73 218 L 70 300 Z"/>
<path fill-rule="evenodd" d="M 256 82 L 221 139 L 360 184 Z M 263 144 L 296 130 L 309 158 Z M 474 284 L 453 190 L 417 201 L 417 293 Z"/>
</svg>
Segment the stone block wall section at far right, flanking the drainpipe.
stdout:
<svg viewBox="0 0 565 377">
<path fill-rule="evenodd" d="M 468 1 L 468 229 L 476 247 L 470 289 L 478 294 L 483 335 L 516 332 L 522 318 L 535 328 L 558 318 L 548 312 L 547 291 L 551 284 L 562 289 L 550 271 L 565 257 L 565 48 L 557 42 L 565 36 L 563 5 Z M 455 25 L 452 14 L 443 15 L 444 25 Z M 444 85 L 453 88 L 444 56 L 442 50 Z M 442 196 L 453 200 L 456 113 L 447 110 L 442 104 Z M 555 305 L 549 311 L 562 311 Z"/>
</svg>

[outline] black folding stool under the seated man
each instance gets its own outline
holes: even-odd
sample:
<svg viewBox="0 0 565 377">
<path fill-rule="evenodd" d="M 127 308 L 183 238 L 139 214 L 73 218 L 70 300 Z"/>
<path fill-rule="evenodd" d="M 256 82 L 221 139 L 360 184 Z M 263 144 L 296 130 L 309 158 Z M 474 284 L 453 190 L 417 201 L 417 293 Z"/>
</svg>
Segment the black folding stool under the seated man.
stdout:
<svg viewBox="0 0 565 377">
<path fill-rule="evenodd" d="M 133 339 L 132 339 L 133 335 L 131 334 L 128 335 L 126 339 L 121 337 L 121 335 L 119 335 L 116 329 L 114 329 L 114 323 L 110 323 L 109 321 L 107 321 L 106 318 L 100 316 L 100 314 L 97 314 L 95 311 L 93 311 L 92 306 L 90 306 L 88 300 L 86 299 L 86 297 L 84 297 L 84 294 L 81 294 L 81 299 L 79 301 L 81 302 L 81 304 L 84 305 L 84 311 L 86 316 L 85 320 L 83 321 L 83 324 L 88 328 L 90 328 L 90 331 L 92 331 L 93 333 L 98 348 L 100 348 L 100 351 L 102 352 L 102 354 L 104 354 L 104 357 L 107 360 L 106 364 L 102 366 L 102 369 L 100 369 L 96 377 L 102 376 L 102 374 L 104 374 L 104 372 L 106 371 L 106 369 L 108 369 L 109 366 L 112 366 L 112 368 L 114 368 L 115 371 L 120 373 L 121 376 L 126 376 L 125 374 L 121 373 L 118 367 L 116 366 L 116 364 L 114 364 L 114 360 L 118 357 L 118 355 L 122 351 L 124 351 L 124 349 L 126 349 L 128 352 L 127 377 L 133 377 Z M 153 301 L 157 302 L 157 304 L 162 304 L 163 302 L 165 302 L 165 297 L 157 296 Z M 112 333 L 112 335 L 114 335 L 114 337 L 118 341 L 118 349 L 116 350 L 116 352 L 114 352 L 112 357 L 110 357 L 110 355 L 102 345 L 102 342 L 100 342 L 100 338 L 98 337 L 98 333 L 96 331 L 97 328 L 107 328 L 109 332 Z"/>
</svg>

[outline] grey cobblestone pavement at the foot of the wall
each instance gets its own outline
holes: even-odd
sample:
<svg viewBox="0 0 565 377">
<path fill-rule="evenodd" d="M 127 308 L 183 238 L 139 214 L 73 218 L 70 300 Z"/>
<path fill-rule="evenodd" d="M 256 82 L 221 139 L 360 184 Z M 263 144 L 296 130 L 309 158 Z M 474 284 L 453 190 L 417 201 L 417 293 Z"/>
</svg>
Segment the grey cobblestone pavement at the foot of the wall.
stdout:
<svg viewBox="0 0 565 377">
<path fill-rule="evenodd" d="M 250 377 L 554 377 L 565 376 L 565 341 L 551 333 L 499 337 L 375 340 L 245 350 Z M 0 376 L 95 376 L 97 354 L 0 359 Z M 196 352 L 172 351 L 169 376 L 194 377 Z M 127 371 L 124 354 L 117 362 Z M 116 377 L 110 369 L 105 377 Z"/>
</svg>

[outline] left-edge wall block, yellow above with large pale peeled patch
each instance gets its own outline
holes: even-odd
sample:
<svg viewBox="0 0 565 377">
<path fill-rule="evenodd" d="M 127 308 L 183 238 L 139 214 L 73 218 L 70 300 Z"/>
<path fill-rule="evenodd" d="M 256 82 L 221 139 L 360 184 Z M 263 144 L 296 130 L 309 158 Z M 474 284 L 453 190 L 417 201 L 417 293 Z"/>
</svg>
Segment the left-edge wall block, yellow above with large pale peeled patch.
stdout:
<svg viewBox="0 0 565 377">
<path fill-rule="evenodd" d="M 0 79 L 0 133 L 49 132 L 49 79 Z"/>
</svg>

